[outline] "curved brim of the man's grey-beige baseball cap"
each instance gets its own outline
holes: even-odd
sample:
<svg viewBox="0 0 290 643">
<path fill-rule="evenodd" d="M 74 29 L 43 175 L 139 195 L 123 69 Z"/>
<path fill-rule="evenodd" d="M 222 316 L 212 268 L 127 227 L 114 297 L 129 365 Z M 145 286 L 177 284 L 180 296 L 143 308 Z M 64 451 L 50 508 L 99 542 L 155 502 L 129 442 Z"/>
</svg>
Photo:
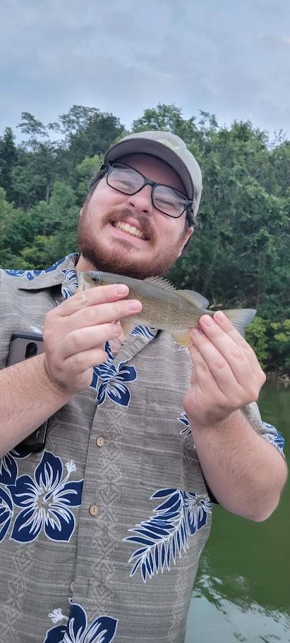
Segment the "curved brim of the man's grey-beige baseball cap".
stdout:
<svg viewBox="0 0 290 643">
<path fill-rule="evenodd" d="M 180 176 L 184 188 L 186 189 L 186 194 L 188 199 L 194 197 L 194 187 L 191 174 L 189 173 L 186 164 L 183 163 L 183 160 L 179 157 L 173 149 L 163 145 L 156 140 L 148 140 L 147 138 L 131 138 L 128 140 L 120 141 L 116 143 L 104 155 L 104 163 L 109 161 L 116 161 L 120 157 L 126 156 L 126 154 L 152 154 L 152 156 L 165 161 L 168 165 L 173 168 L 177 174 Z"/>
</svg>

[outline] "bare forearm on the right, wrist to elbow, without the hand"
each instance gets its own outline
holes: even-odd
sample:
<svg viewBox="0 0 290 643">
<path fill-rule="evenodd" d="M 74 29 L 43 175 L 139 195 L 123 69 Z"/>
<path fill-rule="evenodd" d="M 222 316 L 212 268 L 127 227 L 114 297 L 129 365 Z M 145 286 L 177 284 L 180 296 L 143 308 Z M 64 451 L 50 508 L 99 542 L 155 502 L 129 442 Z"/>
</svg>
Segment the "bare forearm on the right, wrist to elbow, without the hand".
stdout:
<svg viewBox="0 0 290 643">
<path fill-rule="evenodd" d="M 250 426 L 241 411 L 211 427 L 191 424 L 200 465 L 212 494 L 232 513 L 266 520 L 286 482 L 283 456 Z"/>
</svg>

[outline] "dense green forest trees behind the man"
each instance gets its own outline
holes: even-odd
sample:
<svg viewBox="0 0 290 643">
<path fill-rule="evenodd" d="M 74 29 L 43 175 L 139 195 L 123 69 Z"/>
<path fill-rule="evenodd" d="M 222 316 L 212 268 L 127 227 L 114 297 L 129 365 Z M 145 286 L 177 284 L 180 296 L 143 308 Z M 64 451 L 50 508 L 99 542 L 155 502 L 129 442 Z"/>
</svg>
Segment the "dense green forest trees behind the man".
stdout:
<svg viewBox="0 0 290 643">
<path fill-rule="evenodd" d="M 198 226 L 169 273 L 212 310 L 254 307 L 246 338 L 266 372 L 290 372 L 290 142 L 250 121 L 220 125 L 158 104 L 126 129 L 117 116 L 73 105 L 44 125 L 21 114 L 0 135 L 0 267 L 44 268 L 77 250 L 78 214 L 104 152 L 126 133 L 170 130 L 203 173 Z"/>
</svg>

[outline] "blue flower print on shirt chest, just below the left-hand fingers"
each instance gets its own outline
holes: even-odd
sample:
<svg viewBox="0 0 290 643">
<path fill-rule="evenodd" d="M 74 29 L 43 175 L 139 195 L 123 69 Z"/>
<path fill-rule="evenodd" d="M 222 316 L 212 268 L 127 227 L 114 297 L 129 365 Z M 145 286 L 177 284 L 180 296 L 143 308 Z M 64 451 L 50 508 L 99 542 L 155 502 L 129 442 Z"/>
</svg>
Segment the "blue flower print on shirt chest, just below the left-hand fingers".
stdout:
<svg viewBox="0 0 290 643">
<path fill-rule="evenodd" d="M 103 364 L 93 369 L 91 388 L 97 391 L 97 403 L 102 405 L 106 397 L 116 404 L 128 406 L 131 400 L 131 393 L 124 382 L 135 381 L 137 372 L 135 367 L 128 366 L 127 362 L 120 362 L 114 365 L 114 356 L 111 353 L 109 343 L 105 345 L 108 359 Z"/>
</svg>

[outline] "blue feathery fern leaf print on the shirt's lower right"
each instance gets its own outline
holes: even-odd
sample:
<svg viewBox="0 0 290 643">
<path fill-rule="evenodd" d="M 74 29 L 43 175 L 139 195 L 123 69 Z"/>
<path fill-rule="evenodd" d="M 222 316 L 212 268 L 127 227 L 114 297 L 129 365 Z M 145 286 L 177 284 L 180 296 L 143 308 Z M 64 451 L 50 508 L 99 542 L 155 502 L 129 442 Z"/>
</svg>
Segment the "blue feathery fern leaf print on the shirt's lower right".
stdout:
<svg viewBox="0 0 290 643">
<path fill-rule="evenodd" d="M 207 494 L 193 494 L 180 489 L 159 489 L 150 498 L 167 498 L 156 509 L 156 515 L 140 522 L 124 541 L 137 543 L 137 549 L 129 559 L 133 563 L 131 576 L 140 569 L 144 582 L 170 564 L 176 564 L 176 556 L 188 549 L 188 537 L 207 524 L 211 502 Z"/>
</svg>

